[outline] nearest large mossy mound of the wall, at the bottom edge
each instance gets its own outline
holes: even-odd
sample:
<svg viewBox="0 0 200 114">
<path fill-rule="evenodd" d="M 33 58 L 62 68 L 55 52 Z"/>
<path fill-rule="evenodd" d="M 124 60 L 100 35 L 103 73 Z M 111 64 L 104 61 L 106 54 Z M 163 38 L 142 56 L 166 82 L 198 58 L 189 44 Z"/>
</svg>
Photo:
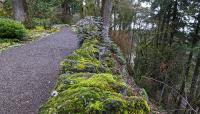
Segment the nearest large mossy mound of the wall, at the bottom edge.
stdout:
<svg viewBox="0 0 200 114">
<path fill-rule="evenodd" d="M 73 82 L 73 83 L 71 83 Z M 149 107 L 139 97 L 124 97 L 126 85 L 111 74 L 62 75 L 58 96 L 51 98 L 39 114 L 147 114 Z"/>
</svg>

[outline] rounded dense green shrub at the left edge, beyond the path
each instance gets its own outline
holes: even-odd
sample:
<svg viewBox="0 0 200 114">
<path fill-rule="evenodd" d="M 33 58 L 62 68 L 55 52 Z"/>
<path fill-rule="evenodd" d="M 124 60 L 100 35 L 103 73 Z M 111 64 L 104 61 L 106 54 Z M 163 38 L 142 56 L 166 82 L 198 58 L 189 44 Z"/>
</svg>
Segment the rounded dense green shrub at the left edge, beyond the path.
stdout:
<svg viewBox="0 0 200 114">
<path fill-rule="evenodd" d="M 24 25 L 11 19 L 0 18 L 0 38 L 23 39 L 26 36 Z"/>
</svg>

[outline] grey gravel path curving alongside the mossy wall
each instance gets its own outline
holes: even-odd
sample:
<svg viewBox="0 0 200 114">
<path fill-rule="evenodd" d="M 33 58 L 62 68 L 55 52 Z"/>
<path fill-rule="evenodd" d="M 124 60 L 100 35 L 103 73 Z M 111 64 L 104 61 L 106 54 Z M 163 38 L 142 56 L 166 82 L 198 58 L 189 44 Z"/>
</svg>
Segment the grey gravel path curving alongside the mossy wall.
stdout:
<svg viewBox="0 0 200 114">
<path fill-rule="evenodd" d="M 37 114 L 55 85 L 60 61 L 77 47 L 76 35 L 62 28 L 0 53 L 0 114 Z"/>
</svg>

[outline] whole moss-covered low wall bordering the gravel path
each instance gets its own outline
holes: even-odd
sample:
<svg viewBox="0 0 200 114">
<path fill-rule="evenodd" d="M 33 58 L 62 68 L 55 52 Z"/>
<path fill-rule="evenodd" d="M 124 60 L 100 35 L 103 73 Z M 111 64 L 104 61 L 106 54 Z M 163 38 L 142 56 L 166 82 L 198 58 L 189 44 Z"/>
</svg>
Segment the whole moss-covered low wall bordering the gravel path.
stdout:
<svg viewBox="0 0 200 114">
<path fill-rule="evenodd" d="M 134 96 L 122 71 L 116 72 L 117 64 L 125 64 L 117 46 L 110 44 L 111 48 L 102 51 L 105 45 L 100 38 L 81 39 L 81 47 L 61 62 L 55 86 L 58 95 L 51 97 L 39 114 L 148 114 L 147 101 Z"/>
</svg>

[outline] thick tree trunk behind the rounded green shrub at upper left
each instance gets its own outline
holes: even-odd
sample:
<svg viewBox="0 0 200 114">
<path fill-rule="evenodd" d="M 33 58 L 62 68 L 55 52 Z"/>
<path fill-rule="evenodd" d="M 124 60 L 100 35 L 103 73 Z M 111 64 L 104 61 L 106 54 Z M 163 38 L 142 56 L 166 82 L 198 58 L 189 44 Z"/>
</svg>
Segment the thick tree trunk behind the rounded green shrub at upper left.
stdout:
<svg viewBox="0 0 200 114">
<path fill-rule="evenodd" d="M 12 0 L 13 16 L 16 21 L 25 22 L 27 14 L 25 11 L 26 0 Z"/>
</svg>

